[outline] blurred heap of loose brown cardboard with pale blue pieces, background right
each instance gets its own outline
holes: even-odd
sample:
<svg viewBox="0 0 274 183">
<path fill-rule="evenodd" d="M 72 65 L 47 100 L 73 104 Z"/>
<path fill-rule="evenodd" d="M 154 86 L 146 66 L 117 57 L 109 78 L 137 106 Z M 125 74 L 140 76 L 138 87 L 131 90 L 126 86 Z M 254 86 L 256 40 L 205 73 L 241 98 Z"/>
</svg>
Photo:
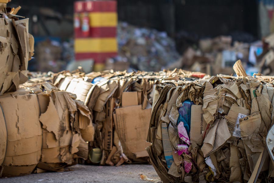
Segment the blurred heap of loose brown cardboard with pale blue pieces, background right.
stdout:
<svg viewBox="0 0 274 183">
<path fill-rule="evenodd" d="M 180 40 L 180 36 L 177 40 Z M 210 75 L 220 73 L 231 75 L 235 74 L 232 69 L 235 60 L 241 59 L 244 68 L 248 68 L 248 73 L 258 72 L 256 55 L 261 54 L 262 51 L 260 41 L 252 43 L 240 42 L 234 41 L 232 36 L 224 35 L 201 39 L 192 38 L 188 35 L 181 41 L 184 43 L 179 46 L 179 48 L 184 48 L 179 51 L 182 55 L 181 59 L 169 66 L 170 69 L 183 68 Z"/>
</svg>

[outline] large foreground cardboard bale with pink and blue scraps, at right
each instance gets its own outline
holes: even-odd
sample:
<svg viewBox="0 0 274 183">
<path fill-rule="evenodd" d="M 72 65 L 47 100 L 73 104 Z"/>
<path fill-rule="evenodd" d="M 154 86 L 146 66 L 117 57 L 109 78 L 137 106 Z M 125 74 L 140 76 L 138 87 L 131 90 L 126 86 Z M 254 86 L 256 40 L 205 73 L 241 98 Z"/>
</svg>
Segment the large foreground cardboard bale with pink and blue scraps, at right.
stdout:
<svg viewBox="0 0 274 183">
<path fill-rule="evenodd" d="M 164 183 L 273 180 L 274 78 L 233 68 L 238 77 L 156 85 L 146 150 Z"/>
</svg>

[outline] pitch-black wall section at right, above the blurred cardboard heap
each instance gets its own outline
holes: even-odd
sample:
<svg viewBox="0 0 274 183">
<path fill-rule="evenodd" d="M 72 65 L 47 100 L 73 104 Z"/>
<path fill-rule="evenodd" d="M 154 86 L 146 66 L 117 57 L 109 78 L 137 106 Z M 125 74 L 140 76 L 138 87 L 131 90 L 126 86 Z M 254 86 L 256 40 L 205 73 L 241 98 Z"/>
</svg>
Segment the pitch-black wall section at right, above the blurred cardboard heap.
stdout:
<svg viewBox="0 0 274 183">
<path fill-rule="evenodd" d="M 191 0 L 176 5 L 176 30 L 201 36 L 245 31 L 258 34 L 255 0 Z"/>
</svg>

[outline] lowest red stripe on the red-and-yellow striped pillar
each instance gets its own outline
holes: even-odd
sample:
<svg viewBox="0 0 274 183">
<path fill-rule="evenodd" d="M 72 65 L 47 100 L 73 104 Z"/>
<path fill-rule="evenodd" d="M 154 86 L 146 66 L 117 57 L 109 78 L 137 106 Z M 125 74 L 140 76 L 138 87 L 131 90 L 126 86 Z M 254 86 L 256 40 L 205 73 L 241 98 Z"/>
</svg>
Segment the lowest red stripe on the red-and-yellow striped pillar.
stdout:
<svg viewBox="0 0 274 183">
<path fill-rule="evenodd" d="M 94 63 L 105 63 L 107 58 L 117 56 L 117 52 L 113 53 L 75 53 L 75 59 L 94 59 Z"/>
</svg>

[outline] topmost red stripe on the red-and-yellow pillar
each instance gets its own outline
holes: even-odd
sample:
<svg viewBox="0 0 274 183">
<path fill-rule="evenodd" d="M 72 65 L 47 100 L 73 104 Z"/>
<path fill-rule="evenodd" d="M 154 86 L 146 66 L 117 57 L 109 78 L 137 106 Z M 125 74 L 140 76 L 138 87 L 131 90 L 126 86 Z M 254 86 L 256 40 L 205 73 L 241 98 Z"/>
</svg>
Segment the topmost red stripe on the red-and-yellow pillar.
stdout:
<svg viewBox="0 0 274 183">
<path fill-rule="evenodd" d="M 87 1 L 84 6 L 86 12 L 117 12 L 116 1 Z"/>
</svg>

